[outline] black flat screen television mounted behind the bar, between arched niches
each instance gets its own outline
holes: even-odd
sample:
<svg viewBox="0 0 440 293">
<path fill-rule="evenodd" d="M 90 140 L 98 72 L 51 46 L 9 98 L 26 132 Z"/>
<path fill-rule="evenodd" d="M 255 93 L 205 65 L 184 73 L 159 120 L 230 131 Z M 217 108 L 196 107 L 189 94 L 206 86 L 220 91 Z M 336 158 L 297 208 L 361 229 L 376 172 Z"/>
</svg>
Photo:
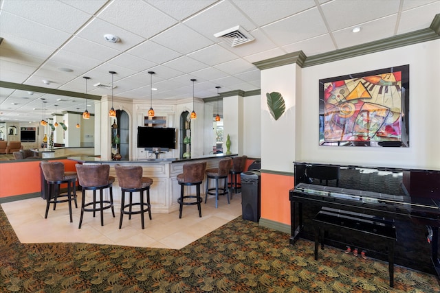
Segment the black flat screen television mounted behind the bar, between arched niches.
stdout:
<svg viewBox="0 0 440 293">
<path fill-rule="evenodd" d="M 137 127 L 137 148 L 175 149 L 175 147 L 175 128 Z"/>
</svg>

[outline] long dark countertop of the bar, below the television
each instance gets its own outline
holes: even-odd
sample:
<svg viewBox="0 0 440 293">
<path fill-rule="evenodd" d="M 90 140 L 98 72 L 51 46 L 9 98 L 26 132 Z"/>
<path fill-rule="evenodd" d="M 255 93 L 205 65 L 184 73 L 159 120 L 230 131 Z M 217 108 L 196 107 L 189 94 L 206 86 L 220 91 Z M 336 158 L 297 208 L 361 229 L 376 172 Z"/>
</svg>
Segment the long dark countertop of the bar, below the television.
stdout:
<svg viewBox="0 0 440 293">
<path fill-rule="evenodd" d="M 69 156 L 67 159 L 72 161 L 77 161 L 79 163 L 180 163 L 180 162 L 190 162 L 201 159 L 212 159 L 212 158 L 223 158 L 228 156 L 237 156 L 238 154 L 209 154 L 206 156 L 199 156 L 197 158 L 164 158 L 164 159 L 137 159 L 136 161 L 113 161 L 113 160 L 102 160 L 96 156 Z"/>
</svg>

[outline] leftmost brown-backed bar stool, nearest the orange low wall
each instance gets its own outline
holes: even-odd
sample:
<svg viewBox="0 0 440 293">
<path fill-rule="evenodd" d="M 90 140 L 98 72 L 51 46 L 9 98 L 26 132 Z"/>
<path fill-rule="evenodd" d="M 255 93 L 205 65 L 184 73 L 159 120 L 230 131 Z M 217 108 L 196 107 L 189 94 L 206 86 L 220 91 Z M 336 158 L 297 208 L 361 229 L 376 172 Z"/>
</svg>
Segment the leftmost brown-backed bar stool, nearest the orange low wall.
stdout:
<svg viewBox="0 0 440 293">
<path fill-rule="evenodd" d="M 49 213 L 50 204 L 54 204 L 54 210 L 56 204 L 61 202 L 69 203 L 69 215 L 70 222 L 73 222 L 72 218 L 72 200 L 75 202 L 75 207 L 78 207 L 76 202 L 76 179 L 78 178 L 76 172 L 65 172 L 64 164 L 61 162 L 41 161 L 41 170 L 43 171 L 44 183 L 48 187 L 48 194 L 46 199 L 46 213 L 44 218 L 47 219 L 47 213 Z M 67 183 L 67 194 L 61 194 L 61 184 Z"/>
</svg>

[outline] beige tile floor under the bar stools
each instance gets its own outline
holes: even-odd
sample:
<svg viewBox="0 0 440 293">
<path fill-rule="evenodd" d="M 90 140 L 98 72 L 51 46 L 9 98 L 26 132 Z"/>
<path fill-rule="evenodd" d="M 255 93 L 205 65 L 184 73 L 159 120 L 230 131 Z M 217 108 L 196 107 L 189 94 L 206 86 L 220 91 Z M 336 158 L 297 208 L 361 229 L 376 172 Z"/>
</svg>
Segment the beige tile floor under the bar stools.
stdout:
<svg viewBox="0 0 440 293">
<path fill-rule="evenodd" d="M 144 230 L 140 215 L 132 215 L 131 220 L 124 215 L 119 229 L 120 213 L 115 209 L 115 218 L 107 212 L 110 210 L 104 213 L 104 226 L 100 225 L 99 213 L 96 218 L 90 212 L 84 213 L 83 224 L 78 229 L 80 198 L 78 192 L 78 209 L 72 205 L 73 223 L 69 222 L 67 202 L 57 204 L 55 211 L 51 204 L 47 219 L 44 218 L 46 202 L 42 198 L 7 202 L 1 207 L 22 243 L 86 242 L 171 249 L 183 248 L 241 215 L 241 194 L 234 194 L 230 204 L 225 196 L 220 196 L 217 209 L 215 197 L 210 196 L 206 204 L 201 203 L 201 218 L 197 205 L 184 206 L 181 219 L 179 211 L 153 213 L 153 220 L 145 215 Z"/>
</svg>

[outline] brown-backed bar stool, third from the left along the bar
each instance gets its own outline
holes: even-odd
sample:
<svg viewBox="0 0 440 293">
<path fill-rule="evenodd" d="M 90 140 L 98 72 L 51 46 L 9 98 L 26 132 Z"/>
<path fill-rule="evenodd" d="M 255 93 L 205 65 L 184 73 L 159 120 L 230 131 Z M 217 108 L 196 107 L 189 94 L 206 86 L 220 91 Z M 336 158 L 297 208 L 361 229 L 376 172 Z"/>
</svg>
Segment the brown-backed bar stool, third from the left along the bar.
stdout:
<svg viewBox="0 0 440 293">
<path fill-rule="evenodd" d="M 148 211 L 151 220 L 151 204 L 150 204 L 150 186 L 153 184 L 153 179 L 149 177 L 142 177 L 141 166 L 121 166 L 115 165 L 116 176 L 118 176 L 119 187 L 121 187 L 121 216 L 119 220 L 119 228 L 122 227 L 122 218 L 124 214 L 131 215 L 140 213 L 142 229 L 144 228 L 144 213 Z M 144 202 L 144 191 L 146 191 L 146 202 Z M 125 192 L 130 193 L 129 204 L 125 204 Z M 140 202 L 133 203 L 133 192 L 140 192 Z M 140 209 L 133 211 L 134 206 L 139 206 Z M 128 211 L 126 209 L 128 208 Z"/>
</svg>

